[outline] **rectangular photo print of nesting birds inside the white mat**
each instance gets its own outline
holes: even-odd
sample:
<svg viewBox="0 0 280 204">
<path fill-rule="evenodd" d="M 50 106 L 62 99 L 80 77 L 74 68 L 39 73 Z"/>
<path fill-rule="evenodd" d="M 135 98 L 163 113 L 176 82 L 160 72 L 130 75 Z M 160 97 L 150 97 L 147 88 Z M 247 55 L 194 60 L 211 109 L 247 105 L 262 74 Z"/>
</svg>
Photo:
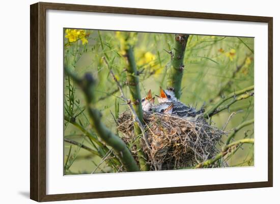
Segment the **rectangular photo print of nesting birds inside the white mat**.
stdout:
<svg viewBox="0 0 280 204">
<path fill-rule="evenodd" d="M 64 28 L 64 175 L 254 166 L 254 38 Z"/>
</svg>

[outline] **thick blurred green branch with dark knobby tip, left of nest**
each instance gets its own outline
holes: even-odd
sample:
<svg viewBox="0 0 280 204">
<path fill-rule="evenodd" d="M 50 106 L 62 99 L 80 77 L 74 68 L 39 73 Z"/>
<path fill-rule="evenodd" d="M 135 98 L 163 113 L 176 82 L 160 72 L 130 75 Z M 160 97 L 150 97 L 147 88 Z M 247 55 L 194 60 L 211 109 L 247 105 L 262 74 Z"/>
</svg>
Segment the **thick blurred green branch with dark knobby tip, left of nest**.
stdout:
<svg viewBox="0 0 280 204">
<path fill-rule="evenodd" d="M 89 111 L 91 125 L 101 137 L 101 139 L 110 147 L 114 149 L 121 162 L 127 171 L 138 171 L 139 168 L 131 155 L 130 151 L 126 147 L 125 142 L 113 132 L 111 132 L 102 122 L 102 114 L 95 108 L 94 103 L 94 79 L 91 74 L 85 74 L 83 78 L 79 78 L 76 74 L 72 73 L 65 67 L 65 73 L 68 74 L 73 81 L 81 88 L 86 97 L 87 108 Z"/>
</svg>

